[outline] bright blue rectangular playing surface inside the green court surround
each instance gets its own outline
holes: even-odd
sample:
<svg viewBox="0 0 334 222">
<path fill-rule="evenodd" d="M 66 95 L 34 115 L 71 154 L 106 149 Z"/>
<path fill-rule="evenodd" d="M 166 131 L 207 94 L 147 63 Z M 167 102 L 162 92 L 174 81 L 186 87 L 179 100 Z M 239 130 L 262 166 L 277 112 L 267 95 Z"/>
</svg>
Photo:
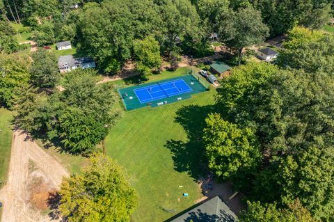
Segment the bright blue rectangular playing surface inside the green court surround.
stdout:
<svg viewBox="0 0 334 222">
<path fill-rule="evenodd" d="M 134 93 L 138 97 L 141 104 L 145 102 L 151 102 L 154 100 L 171 97 L 173 95 L 179 95 L 183 93 L 189 93 L 192 89 L 186 84 L 183 79 L 177 79 L 174 81 L 168 81 L 164 83 L 155 83 L 151 86 L 144 86 L 142 88 L 136 88 Z"/>
</svg>

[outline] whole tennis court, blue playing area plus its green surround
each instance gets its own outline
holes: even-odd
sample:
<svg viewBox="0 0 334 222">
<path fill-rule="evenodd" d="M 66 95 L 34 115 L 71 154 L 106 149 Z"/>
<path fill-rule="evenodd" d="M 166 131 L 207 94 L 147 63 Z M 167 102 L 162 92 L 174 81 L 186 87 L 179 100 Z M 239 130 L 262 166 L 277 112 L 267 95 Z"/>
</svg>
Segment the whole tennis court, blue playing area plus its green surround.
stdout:
<svg viewBox="0 0 334 222">
<path fill-rule="evenodd" d="M 144 106 L 162 106 L 191 98 L 192 94 L 207 90 L 198 77 L 187 74 L 118 90 L 127 111 Z"/>
</svg>

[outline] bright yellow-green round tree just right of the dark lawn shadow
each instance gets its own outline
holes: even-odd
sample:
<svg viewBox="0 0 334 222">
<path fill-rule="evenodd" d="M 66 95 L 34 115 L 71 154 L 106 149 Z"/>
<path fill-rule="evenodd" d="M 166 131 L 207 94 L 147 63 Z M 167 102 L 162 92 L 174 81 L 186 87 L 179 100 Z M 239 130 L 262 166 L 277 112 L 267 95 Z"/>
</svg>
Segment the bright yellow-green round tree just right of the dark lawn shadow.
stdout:
<svg viewBox="0 0 334 222">
<path fill-rule="evenodd" d="M 209 160 L 209 168 L 223 180 L 245 179 L 255 171 L 261 159 L 259 145 L 249 128 L 223 120 L 217 113 L 211 113 L 205 120 L 203 140 Z"/>
</svg>

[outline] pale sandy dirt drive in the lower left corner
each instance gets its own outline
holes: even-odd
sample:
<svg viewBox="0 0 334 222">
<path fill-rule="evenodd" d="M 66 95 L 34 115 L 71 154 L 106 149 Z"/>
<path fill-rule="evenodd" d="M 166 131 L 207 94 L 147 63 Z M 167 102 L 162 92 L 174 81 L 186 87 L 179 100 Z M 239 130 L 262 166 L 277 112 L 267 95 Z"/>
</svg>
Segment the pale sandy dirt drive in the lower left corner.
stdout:
<svg viewBox="0 0 334 222">
<path fill-rule="evenodd" d="M 31 169 L 32 164 L 33 169 Z M 31 190 L 35 189 L 33 186 L 40 186 L 33 183 L 35 177 L 32 180 L 29 176 L 31 173 L 38 173 L 38 179 L 43 180 L 43 184 L 47 184 L 49 191 L 58 189 L 63 176 L 69 176 L 56 159 L 49 156 L 33 141 L 26 140 L 26 134 L 14 132 L 8 182 L 0 193 L 3 202 L 1 221 L 50 221 L 48 216 L 42 216 L 29 203 L 33 195 Z"/>
</svg>

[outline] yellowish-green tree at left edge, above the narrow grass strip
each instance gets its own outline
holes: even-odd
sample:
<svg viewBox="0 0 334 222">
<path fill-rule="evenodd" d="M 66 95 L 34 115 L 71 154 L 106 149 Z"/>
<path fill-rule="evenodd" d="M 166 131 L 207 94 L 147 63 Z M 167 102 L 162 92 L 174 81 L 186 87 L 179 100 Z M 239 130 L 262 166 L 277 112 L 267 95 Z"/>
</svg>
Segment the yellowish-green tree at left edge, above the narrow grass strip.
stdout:
<svg viewBox="0 0 334 222">
<path fill-rule="evenodd" d="M 29 67 L 29 58 L 0 53 L 0 104 L 12 106 L 15 88 L 29 81 Z"/>
</svg>

